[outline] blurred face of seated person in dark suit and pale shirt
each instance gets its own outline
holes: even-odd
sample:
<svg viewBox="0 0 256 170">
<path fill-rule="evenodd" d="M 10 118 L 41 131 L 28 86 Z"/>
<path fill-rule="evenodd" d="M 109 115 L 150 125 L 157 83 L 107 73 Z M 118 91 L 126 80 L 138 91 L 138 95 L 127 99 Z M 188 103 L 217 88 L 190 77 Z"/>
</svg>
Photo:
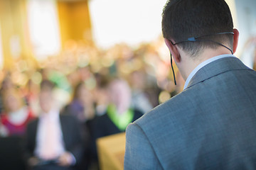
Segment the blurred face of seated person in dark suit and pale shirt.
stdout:
<svg viewBox="0 0 256 170">
<path fill-rule="evenodd" d="M 51 91 L 41 91 L 39 104 L 43 112 L 48 113 L 53 105 L 53 95 Z"/>
</svg>

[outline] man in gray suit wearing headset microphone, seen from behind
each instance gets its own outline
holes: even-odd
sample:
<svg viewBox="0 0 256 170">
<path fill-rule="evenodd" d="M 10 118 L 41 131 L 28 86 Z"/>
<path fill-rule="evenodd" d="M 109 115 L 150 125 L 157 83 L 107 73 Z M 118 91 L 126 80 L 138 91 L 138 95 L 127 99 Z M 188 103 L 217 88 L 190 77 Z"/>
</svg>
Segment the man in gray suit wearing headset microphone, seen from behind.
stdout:
<svg viewBox="0 0 256 170">
<path fill-rule="evenodd" d="M 256 72 L 224 0 L 172 0 L 162 31 L 184 90 L 127 127 L 124 169 L 256 169 Z"/>
</svg>

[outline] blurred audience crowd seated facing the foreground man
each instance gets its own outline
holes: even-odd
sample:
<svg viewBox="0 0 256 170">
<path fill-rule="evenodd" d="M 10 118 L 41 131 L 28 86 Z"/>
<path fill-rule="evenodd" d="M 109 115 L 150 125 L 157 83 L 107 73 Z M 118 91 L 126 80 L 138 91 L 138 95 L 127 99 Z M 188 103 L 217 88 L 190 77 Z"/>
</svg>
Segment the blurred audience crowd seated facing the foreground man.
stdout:
<svg viewBox="0 0 256 170">
<path fill-rule="evenodd" d="M 49 168 L 51 164 L 98 169 L 97 138 L 124 132 L 129 123 L 182 90 L 176 66 L 174 85 L 169 54 L 162 43 L 158 40 L 137 48 L 119 44 L 99 50 L 70 42 L 60 55 L 36 66 L 17 59 L 16 67 L 3 69 L 0 147 L 7 154 L 0 149 L 0 169 L 10 166 L 4 160 L 16 157 L 21 157 L 16 160 L 19 169 L 54 169 Z M 48 132 L 51 120 L 54 125 Z M 50 150 L 55 151 L 45 153 L 47 136 L 53 132 L 58 137 L 50 142 L 56 144 Z"/>
</svg>

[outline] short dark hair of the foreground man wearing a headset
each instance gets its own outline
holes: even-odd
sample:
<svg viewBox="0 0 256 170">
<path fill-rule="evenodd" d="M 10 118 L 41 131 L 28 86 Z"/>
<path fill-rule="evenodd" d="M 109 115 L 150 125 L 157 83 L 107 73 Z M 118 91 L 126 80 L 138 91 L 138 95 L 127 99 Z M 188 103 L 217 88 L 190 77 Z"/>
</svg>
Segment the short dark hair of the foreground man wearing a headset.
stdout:
<svg viewBox="0 0 256 170">
<path fill-rule="evenodd" d="M 191 37 L 210 35 L 204 40 L 227 44 L 233 49 L 233 35 L 215 33 L 233 32 L 233 19 L 225 0 L 170 0 L 162 13 L 164 38 L 180 42 Z M 182 42 L 178 44 L 195 57 L 204 47 L 215 49 L 218 44 L 210 41 Z"/>
</svg>

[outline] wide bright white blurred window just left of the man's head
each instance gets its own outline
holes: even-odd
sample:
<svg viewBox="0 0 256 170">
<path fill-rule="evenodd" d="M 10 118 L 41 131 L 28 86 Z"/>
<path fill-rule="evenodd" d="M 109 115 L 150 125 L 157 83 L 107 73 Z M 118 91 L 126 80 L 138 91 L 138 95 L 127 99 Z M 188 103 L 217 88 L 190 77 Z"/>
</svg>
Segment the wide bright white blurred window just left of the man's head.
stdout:
<svg viewBox="0 0 256 170">
<path fill-rule="evenodd" d="M 100 47 L 119 42 L 137 45 L 161 35 L 161 13 L 166 0 L 93 0 L 89 3 L 93 37 Z"/>
</svg>

